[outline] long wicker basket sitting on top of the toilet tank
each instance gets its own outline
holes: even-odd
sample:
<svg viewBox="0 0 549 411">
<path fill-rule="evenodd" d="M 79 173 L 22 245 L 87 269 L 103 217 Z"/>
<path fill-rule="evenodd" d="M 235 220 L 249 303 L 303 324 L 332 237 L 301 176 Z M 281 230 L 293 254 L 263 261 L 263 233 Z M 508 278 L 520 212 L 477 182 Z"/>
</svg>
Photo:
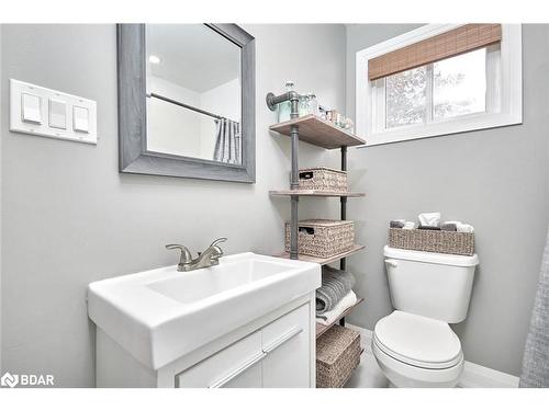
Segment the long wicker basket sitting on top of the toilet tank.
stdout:
<svg viewBox="0 0 549 411">
<path fill-rule="evenodd" d="M 474 235 L 472 232 L 390 228 L 389 246 L 395 249 L 472 255 Z"/>
</svg>

